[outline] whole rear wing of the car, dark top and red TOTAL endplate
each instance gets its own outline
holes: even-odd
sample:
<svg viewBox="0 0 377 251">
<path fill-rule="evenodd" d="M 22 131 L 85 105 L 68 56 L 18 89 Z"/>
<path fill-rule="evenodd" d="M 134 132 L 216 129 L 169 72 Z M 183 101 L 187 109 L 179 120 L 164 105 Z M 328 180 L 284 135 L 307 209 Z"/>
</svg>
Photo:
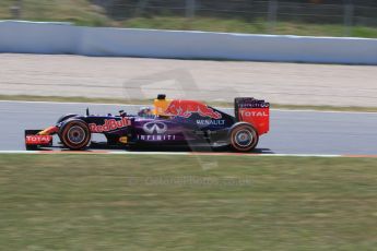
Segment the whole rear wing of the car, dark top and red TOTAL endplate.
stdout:
<svg viewBox="0 0 377 251">
<path fill-rule="evenodd" d="M 259 135 L 268 133 L 270 130 L 270 103 L 252 97 L 236 97 L 234 105 L 237 121 L 252 124 Z"/>
</svg>

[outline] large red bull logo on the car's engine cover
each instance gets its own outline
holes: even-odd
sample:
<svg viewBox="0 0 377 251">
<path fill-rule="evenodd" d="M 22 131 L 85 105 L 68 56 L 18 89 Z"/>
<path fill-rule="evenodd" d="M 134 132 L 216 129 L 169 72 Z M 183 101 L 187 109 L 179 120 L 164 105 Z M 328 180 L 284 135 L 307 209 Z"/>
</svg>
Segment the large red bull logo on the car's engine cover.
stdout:
<svg viewBox="0 0 377 251">
<path fill-rule="evenodd" d="M 221 119 L 220 112 L 214 111 L 212 108 L 200 101 L 193 100 L 173 100 L 165 110 L 168 116 L 179 116 L 189 118 L 192 113 L 198 113 L 202 117 L 209 117 L 212 119 Z"/>
</svg>

